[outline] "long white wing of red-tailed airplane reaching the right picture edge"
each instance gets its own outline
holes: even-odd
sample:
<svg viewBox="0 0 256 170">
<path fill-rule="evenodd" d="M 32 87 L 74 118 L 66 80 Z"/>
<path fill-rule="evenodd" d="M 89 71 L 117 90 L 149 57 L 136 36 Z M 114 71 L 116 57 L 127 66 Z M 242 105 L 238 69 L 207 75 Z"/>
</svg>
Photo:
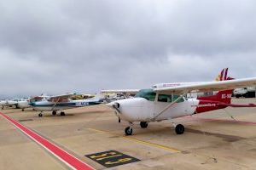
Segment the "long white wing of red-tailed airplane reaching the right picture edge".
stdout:
<svg viewBox="0 0 256 170">
<path fill-rule="evenodd" d="M 247 86 L 256 86 L 256 77 L 227 80 L 222 82 L 202 82 L 200 84 L 188 84 L 177 87 L 154 88 L 154 92 L 157 94 L 187 94 L 191 91 L 221 91 L 234 88 L 245 88 Z"/>
</svg>

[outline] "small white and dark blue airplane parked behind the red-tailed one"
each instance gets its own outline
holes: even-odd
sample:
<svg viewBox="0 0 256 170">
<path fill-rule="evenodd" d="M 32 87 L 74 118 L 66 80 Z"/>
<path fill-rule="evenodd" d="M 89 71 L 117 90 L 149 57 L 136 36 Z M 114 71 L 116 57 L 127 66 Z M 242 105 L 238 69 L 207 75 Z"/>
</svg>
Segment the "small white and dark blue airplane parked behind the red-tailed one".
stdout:
<svg viewBox="0 0 256 170">
<path fill-rule="evenodd" d="M 31 102 L 29 105 L 32 105 L 36 111 L 40 111 L 38 116 L 43 116 L 43 111 L 52 111 L 52 115 L 55 116 L 57 111 L 61 111 L 61 116 L 65 116 L 63 110 L 84 107 L 89 105 L 99 105 L 102 104 L 102 99 L 71 99 L 74 95 L 77 94 L 63 94 L 57 96 L 51 96 L 48 99 L 42 101 Z"/>
</svg>

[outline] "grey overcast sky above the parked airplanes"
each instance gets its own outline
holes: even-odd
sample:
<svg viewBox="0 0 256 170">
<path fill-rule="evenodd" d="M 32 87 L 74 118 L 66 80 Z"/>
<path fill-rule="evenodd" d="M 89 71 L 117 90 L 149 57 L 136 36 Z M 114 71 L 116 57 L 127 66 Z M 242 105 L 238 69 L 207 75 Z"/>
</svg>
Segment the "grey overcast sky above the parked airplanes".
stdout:
<svg viewBox="0 0 256 170">
<path fill-rule="evenodd" d="M 256 77 L 254 0 L 0 1 L 0 99 Z"/>
</svg>

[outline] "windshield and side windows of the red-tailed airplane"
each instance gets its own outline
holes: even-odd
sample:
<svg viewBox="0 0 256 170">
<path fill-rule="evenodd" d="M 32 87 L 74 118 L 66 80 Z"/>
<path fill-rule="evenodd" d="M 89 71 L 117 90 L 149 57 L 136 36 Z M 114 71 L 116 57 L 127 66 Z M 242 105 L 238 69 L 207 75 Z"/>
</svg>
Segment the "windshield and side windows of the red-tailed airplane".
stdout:
<svg viewBox="0 0 256 170">
<path fill-rule="evenodd" d="M 149 101 L 154 101 L 155 96 L 156 96 L 156 94 L 152 88 L 142 89 L 135 95 L 136 98 L 144 98 Z M 157 101 L 171 103 L 172 101 L 176 100 L 177 98 L 178 98 L 178 95 L 173 95 L 173 97 L 172 97 L 172 95 L 159 94 Z M 183 102 L 183 101 L 184 101 L 184 99 L 182 98 L 182 99 L 179 99 L 177 101 L 177 103 Z"/>
</svg>

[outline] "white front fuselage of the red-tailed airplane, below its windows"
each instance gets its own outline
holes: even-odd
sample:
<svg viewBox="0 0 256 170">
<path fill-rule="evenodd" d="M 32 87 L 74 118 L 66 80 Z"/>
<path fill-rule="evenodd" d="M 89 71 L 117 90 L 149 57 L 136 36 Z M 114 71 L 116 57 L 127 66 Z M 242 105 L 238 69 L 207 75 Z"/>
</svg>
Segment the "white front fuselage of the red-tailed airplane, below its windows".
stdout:
<svg viewBox="0 0 256 170">
<path fill-rule="evenodd" d="M 120 99 L 119 112 L 116 114 L 121 120 L 127 122 L 152 122 L 163 121 L 166 119 L 173 119 L 180 116 L 193 115 L 196 110 L 196 106 L 199 104 L 197 99 L 184 99 L 183 102 L 176 103 L 166 111 L 163 111 L 170 103 L 149 101 L 144 98 L 134 99 Z M 113 105 L 114 102 L 110 105 Z M 160 111 L 163 111 L 160 116 L 157 116 Z"/>
</svg>

